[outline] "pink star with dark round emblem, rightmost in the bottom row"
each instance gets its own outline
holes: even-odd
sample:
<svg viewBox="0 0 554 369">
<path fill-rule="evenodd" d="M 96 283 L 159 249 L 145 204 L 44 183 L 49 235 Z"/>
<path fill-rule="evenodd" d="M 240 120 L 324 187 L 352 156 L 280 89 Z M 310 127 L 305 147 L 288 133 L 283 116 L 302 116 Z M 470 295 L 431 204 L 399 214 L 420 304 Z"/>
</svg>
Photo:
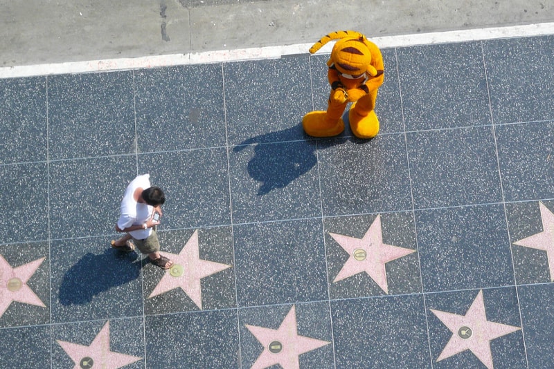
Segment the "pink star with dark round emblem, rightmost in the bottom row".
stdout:
<svg viewBox="0 0 554 369">
<path fill-rule="evenodd" d="M 465 315 L 452 314 L 430 309 L 452 332 L 452 337 L 440 352 L 437 361 L 446 359 L 465 350 L 471 350 L 489 369 L 492 369 L 490 341 L 520 330 L 519 327 L 494 323 L 485 316 L 483 291 L 479 291 Z"/>
</svg>

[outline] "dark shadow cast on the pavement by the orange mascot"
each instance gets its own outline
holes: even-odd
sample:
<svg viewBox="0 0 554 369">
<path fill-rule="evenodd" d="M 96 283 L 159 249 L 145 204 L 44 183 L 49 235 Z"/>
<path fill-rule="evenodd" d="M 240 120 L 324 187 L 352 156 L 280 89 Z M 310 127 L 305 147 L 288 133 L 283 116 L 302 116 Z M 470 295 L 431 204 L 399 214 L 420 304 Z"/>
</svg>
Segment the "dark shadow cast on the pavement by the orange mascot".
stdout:
<svg viewBox="0 0 554 369">
<path fill-rule="evenodd" d="M 298 137 L 299 133 L 301 137 Z M 249 138 L 235 146 L 233 151 L 239 152 L 256 144 L 254 156 L 248 162 L 247 169 L 251 178 L 262 183 L 258 196 L 263 196 L 272 189 L 286 187 L 317 164 L 316 140 L 305 141 L 306 139 L 312 138 L 303 133 L 302 124 L 298 124 L 283 131 Z M 346 138 L 337 136 L 318 139 L 317 142 L 322 148 L 341 144 L 345 140 Z"/>
</svg>

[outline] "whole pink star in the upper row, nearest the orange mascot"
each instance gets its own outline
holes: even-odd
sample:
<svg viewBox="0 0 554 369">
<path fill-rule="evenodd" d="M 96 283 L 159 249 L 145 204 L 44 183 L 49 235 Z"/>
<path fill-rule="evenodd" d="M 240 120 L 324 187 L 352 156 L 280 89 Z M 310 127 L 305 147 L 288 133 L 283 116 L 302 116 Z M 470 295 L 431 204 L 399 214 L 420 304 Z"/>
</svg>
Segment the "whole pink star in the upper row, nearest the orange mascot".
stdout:
<svg viewBox="0 0 554 369">
<path fill-rule="evenodd" d="M 388 294 L 388 284 L 386 283 L 385 263 L 415 252 L 412 249 L 383 243 L 380 215 L 370 225 L 364 238 L 359 239 L 333 233 L 330 235 L 350 255 L 333 282 L 337 283 L 355 274 L 366 272 L 386 294 Z"/>
</svg>

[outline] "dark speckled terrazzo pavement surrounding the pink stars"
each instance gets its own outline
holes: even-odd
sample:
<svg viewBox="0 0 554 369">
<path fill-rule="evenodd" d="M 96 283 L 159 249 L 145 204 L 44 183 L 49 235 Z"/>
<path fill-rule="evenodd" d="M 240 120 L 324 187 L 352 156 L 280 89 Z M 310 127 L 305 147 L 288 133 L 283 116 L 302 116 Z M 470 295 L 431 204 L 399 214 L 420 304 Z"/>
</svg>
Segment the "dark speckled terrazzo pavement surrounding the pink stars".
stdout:
<svg viewBox="0 0 554 369">
<path fill-rule="evenodd" d="M 0 368 L 71 368 L 63 342 L 105 327 L 94 359 L 114 368 L 551 367 L 554 36 L 382 52 L 366 141 L 302 131 L 325 108 L 325 55 L 0 79 Z M 109 248 L 142 173 L 166 190 L 163 251 L 198 230 L 199 258 L 231 265 L 202 277 L 201 308 L 184 289 L 150 297 L 168 272 Z M 366 272 L 334 281 L 350 255 L 332 235 L 364 238 L 378 216 L 382 243 L 415 251 L 386 263 L 388 293 Z M 544 249 L 521 245 L 536 234 Z M 515 327 L 480 341 L 488 364 L 463 346 L 477 333 L 438 317 L 480 296 Z M 293 318 L 290 340 L 319 346 L 284 361 L 251 327 Z"/>
</svg>

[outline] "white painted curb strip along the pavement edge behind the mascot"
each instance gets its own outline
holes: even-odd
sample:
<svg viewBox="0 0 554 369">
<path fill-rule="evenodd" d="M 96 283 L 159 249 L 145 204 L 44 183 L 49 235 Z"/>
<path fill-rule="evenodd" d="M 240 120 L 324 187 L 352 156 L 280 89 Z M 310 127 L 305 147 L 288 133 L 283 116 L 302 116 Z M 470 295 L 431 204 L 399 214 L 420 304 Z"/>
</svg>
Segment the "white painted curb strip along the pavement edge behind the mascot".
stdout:
<svg viewBox="0 0 554 369">
<path fill-rule="evenodd" d="M 533 23 L 521 26 L 474 28 L 469 30 L 449 30 L 443 32 L 416 33 L 384 37 L 370 36 L 369 39 L 375 42 L 379 48 L 396 48 L 544 35 L 554 35 L 554 22 Z M 0 68 L 0 79 L 66 73 L 106 72 L 111 70 L 156 68 L 191 64 L 212 64 L 251 59 L 274 59 L 285 55 L 307 54 L 307 50 L 310 46 L 312 46 L 312 43 L 294 44 L 288 46 L 264 46 L 260 48 L 240 48 L 236 50 L 214 50 L 199 53 L 157 55 L 148 57 L 71 61 L 29 66 L 10 66 Z M 331 48 L 332 43 L 329 43 L 320 50 L 320 53 L 329 53 Z"/>
</svg>

